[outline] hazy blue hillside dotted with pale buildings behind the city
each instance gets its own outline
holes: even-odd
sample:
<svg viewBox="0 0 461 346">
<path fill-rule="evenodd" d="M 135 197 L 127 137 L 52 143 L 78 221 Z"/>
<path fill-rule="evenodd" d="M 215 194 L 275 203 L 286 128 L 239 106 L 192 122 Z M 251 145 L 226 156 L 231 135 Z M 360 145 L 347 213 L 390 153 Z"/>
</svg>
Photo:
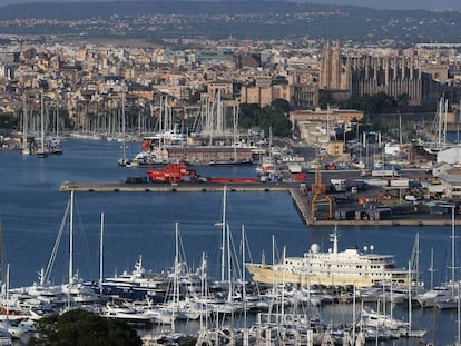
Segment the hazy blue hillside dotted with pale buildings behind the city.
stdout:
<svg viewBox="0 0 461 346">
<path fill-rule="evenodd" d="M 164 38 L 458 41 L 461 11 L 375 10 L 290 1 L 107 1 L 1 8 L 0 33 Z"/>
</svg>

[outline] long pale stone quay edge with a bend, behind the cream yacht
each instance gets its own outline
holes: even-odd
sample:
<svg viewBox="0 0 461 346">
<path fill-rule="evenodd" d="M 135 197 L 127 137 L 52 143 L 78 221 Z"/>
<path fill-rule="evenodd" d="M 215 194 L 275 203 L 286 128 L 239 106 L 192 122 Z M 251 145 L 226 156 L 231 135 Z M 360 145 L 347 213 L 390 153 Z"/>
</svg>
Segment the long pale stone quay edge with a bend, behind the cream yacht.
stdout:
<svg viewBox="0 0 461 346">
<path fill-rule="evenodd" d="M 441 215 L 422 215 L 412 214 L 403 216 L 393 216 L 389 219 L 380 220 L 336 220 L 321 219 L 311 220 L 311 210 L 308 197 L 300 191 L 300 182 L 278 182 L 278 184 L 206 184 L 206 182 L 188 182 L 188 184 L 127 184 L 122 181 L 112 182 L 76 182 L 63 181 L 59 187 L 62 192 L 223 192 L 224 187 L 230 192 L 287 192 L 293 199 L 293 204 L 300 214 L 303 223 L 308 226 L 332 227 L 332 226 L 450 226 L 449 216 Z M 455 220 L 457 226 L 461 226 L 461 219 Z"/>
</svg>

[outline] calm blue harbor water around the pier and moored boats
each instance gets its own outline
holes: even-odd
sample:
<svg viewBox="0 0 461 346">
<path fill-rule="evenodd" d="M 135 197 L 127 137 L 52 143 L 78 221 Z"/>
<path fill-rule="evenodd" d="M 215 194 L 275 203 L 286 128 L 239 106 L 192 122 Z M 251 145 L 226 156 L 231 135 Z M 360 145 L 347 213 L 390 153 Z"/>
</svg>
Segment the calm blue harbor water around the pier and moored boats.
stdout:
<svg viewBox="0 0 461 346">
<path fill-rule="evenodd" d="M 69 140 L 62 144 L 62 156 L 39 158 L 16 151 L 0 151 L 0 223 L 2 225 L 2 268 L 10 264 L 10 287 L 31 285 L 46 267 L 57 238 L 69 195 L 59 191 L 65 180 L 124 181 L 127 176 L 144 176 L 146 168 L 120 168 L 120 144 Z M 139 144 L 129 144 L 135 154 Z M 255 167 L 195 167 L 202 176 L 256 177 Z M 208 273 L 220 275 L 220 226 L 223 195 L 217 192 L 81 192 L 75 196 L 73 268 L 85 280 L 99 278 L 100 214 L 105 215 L 104 274 L 131 270 L 139 256 L 143 265 L 156 271 L 173 266 L 175 223 L 185 257 L 190 267 L 198 267 L 202 254 Z M 440 216 L 449 219 L 449 216 Z M 233 233 L 234 248 L 241 247 L 242 227 L 248 247 L 247 260 L 267 263 L 282 256 L 301 256 L 311 244 L 331 247 L 330 228 L 303 224 L 287 192 L 228 192 L 226 218 Z M 430 288 L 431 250 L 437 271 L 434 285 L 451 278 L 451 228 L 441 227 L 347 227 L 339 229 L 340 249 L 350 245 L 366 246 L 370 251 L 396 256 L 406 267 L 415 235 L 420 236 L 420 268 L 425 287 Z M 273 241 L 273 239 L 275 241 Z M 276 246 L 274 246 L 274 244 Z M 68 241 L 62 238 L 52 280 L 68 280 Z M 457 238 L 457 248 L 461 244 Z M 275 254 L 273 249 L 275 250 Z M 252 257 L 252 258 L 251 258 Z M 457 256 L 457 258 L 460 258 Z M 458 271 L 458 270 L 457 270 Z M 4 271 L 3 271 L 4 273 Z M 458 274 L 457 274 L 457 277 Z M 394 316 L 406 319 L 406 307 L 395 307 Z M 351 305 L 323 308 L 327 323 L 352 319 Z M 425 339 L 435 345 L 454 342 L 457 312 L 413 308 L 413 327 L 426 328 Z M 386 344 L 414 345 L 414 339 Z"/>
</svg>

